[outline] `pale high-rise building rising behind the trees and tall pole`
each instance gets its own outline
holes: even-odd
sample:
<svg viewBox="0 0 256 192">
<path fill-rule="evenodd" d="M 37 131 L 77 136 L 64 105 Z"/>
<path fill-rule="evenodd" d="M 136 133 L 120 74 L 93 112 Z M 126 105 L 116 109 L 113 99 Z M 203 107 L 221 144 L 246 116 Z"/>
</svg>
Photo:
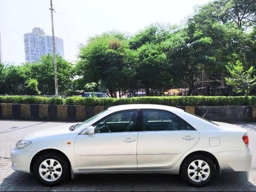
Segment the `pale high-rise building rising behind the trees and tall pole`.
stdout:
<svg viewBox="0 0 256 192">
<path fill-rule="evenodd" d="M 42 55 L 53 54 L 52 36 L 45 35 L 44 30 L 34 28 L 32 33 L 24 34 L 26 61 L 39 61 Z M 64 57 L 63 40 L 55 37 L 56 54 Z"/>
</svg>

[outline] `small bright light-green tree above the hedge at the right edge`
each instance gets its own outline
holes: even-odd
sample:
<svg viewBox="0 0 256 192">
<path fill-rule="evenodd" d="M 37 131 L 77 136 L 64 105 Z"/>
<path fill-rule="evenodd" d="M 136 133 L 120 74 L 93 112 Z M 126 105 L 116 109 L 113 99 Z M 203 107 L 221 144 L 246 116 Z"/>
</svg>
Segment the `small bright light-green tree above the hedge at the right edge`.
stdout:
<svg viewBox="0 0 256 192">
<path fill-rule="evenodd" d="M 227 71 L 230 77 L 225 77 L 226 83 L 233 87 L 234 92 L 243 93 L 245 96 L 256 85 L 256 76 L 253 75 L 254 68 L 244 69 L 241 61 L 236 61 L 235 65 L 228 63 Z"/>
</svg>

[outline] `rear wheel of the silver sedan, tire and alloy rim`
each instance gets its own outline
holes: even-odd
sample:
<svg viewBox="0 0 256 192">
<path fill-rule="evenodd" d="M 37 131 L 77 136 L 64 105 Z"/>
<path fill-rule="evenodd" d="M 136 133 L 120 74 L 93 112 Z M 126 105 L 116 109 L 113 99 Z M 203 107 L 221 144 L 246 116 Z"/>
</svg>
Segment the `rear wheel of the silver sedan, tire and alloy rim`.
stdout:
<svg viewBox="0 0 256 192">
<path fill-rule="evenodd" d="M 209 157 L 194 155 L 185 159 L 180 175 L 188 184 L 201 187 L 206 185 L 215 173 L 214 162 Z"/>
</svg>

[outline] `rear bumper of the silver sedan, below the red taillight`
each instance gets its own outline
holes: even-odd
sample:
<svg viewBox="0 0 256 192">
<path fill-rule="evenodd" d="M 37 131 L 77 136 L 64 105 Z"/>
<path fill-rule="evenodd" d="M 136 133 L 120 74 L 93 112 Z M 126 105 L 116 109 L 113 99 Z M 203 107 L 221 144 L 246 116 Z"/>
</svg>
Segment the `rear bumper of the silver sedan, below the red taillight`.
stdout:
<svg viewBox="0 0 256 192">
<path fill-rule="evenodd" d="M 218 159 L 221 170 L 247 172 L 251 169 L 252 154 L 248 147 L 245 151 L 218 152 L 214 155 Z"/>
</svg>

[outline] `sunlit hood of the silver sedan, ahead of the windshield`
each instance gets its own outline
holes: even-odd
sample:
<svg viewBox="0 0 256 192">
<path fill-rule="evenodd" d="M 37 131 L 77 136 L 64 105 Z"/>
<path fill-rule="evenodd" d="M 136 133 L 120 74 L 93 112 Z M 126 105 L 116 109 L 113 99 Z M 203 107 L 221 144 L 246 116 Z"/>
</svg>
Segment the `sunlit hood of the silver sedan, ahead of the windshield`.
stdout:
<svg viewBox="0 0 256 192">
<path fill-rule="evenodd" d="M 71 131 L 69 131 L 69 127 L 73 124 L 76 124 L 76 123 L 74 122 L 66 123 L 66 124 L 62 124 L 54 127 L 49 127 L 47 129 L 25 135 L 24 137 L 22 137 L 21 140 L 33 140 L 39 137 L 56 136 L 56 135 L 72 133 Z"/>
</svg>

